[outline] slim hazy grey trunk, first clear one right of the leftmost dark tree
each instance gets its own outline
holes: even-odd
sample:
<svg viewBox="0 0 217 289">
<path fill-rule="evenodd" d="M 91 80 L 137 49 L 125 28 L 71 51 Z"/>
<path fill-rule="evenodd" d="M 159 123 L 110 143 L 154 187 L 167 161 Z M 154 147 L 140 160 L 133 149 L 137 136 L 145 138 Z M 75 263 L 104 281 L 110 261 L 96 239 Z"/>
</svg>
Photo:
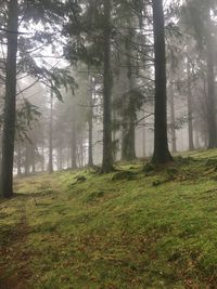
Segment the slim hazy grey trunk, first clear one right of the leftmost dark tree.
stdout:
<svg viewBox="0 0 217 289">
<path fill-rule="evenodd" d="M 49 160 L 48 172 L 53 172 L 53 97 L 50 96 L 50 119 L 49 119 Z"/>
</svg>

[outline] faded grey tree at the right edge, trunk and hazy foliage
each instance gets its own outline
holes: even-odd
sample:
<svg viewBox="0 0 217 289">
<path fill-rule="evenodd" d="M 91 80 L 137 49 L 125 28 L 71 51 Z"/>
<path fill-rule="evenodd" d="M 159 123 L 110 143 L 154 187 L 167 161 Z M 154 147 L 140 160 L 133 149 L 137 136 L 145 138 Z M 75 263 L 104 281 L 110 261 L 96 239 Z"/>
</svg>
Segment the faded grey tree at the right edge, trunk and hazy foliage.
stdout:
<svg viewBox="0 0 217 289">
<path fill-rule="evenodd" d="M 216 1 L 196 1 L 188 0 L 183 9 L 183 17 L 186 26 L 193 31 L 194 39 L 203 61 L 206 63 L 206 90 L 207 94 L 207 131 L 208 131 L 208 148 L 217 147 L 217 123 L 216 123 L 216 92 L 215 92 L 215 39 L 216 29 L 212 12 L 216 9 Z"/>
</svg>

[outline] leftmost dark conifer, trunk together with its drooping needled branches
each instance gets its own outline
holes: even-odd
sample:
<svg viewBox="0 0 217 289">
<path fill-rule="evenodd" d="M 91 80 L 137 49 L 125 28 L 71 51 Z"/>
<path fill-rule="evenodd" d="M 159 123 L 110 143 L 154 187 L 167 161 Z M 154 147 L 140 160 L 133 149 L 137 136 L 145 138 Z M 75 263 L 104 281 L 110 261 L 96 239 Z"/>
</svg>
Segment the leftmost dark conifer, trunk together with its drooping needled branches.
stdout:
<svg viewBox="0 0 217 289">
<path fill-rule="evenodd" d="M 51 24 L 52 28 L 55 24 L 62 24 L 64 6 L 62 1 L 5 1 L 3 3 L 2 17 L 7 23 L 7 28 L 1 28 L 1 32 L 7 35 L 7 65 L 5 65 L 5 104 L 4 104 L 4 121 L 3 121 L 3 141 L 2 141 L 2 161 L 1 161 L 1 180 L 0 195 L 2 197 L 11 197 L 13 194 L 13 159 L 14 159 L 14 140 L 15 140 L 15 123 L 16 123 L 16 95 L 22 92 L 16 91 L 17 76 L 29 74 L 36 78 L 34 83 L 41 81 L 48 86 L 61 98 L 60 87 L 66 86 L 68 79 L 67 71 L 58 69 L 54 66 L 46 67 L 42 62 L 42 67 L 39 67 L 34 60 L 36 51 L 44 45 L 51 45 L 55 34 L 51 30 L 37 31 L 36 35 L 29 38 L 28 34 L 18 31 L 20 27 L 28 28 L 27 24 L 30 21 L 34 23 Z M 18 22 L 18 19 L 21 19 Z M 1 19 L 2 21 L 2 19 Z M 22 24 L 22 26 L 21 26 Z M 55 26 L 56 27 L 56 26 Z M 52 35 L 52 36 L 51 36 Z M 5 40 L 5 37 L 2 37 Z M 39 44 L 40 43 L 40 44 Z M 17 50 L 20 50 L 21 61 L 17 61 Z M 31 55 L 30 55 L 31 54 Z M 34 83 L 31 86 L 34 86 Z M 27 90 L 27 88 L 25 89 Z"/>
</svg>

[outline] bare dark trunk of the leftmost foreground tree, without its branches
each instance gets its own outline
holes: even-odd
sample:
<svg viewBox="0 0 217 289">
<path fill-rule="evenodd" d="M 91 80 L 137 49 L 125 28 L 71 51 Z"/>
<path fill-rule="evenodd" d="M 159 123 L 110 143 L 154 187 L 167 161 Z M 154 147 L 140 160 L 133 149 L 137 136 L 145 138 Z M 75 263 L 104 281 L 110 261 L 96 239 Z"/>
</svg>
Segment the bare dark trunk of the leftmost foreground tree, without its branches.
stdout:
<svg viewBox="0 0 217 289">
<path fill-rule="evenodd" d="M 13 159 L 16 117 L 16 53 L 18 13 L 17 0 L 10 0 L 8 16 L 8 54 L 5 71 L 5 103 L 2 139 L 2 162 L 0 196 L 10 198 L 13 195 Z"/>
</svg>

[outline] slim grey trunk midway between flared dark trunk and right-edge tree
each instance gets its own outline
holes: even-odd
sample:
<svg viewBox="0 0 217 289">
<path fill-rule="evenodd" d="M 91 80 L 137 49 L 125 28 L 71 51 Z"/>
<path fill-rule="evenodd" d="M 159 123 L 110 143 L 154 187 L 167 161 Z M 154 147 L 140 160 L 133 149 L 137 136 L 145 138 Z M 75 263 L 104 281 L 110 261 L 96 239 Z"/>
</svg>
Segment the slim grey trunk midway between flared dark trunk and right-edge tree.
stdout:
<svg viewBox="0 0 217 289">
<path fill-rule="evenodd" d="M 187 57 L 187 75 L 188 75 L 188 132 L 189 132 L 189 150 L 194 149 L 193 143 L 193 113 L 192 113 L 192 92 L 191 92 L 191 69 L 190 61 Z"/>
</svg>

